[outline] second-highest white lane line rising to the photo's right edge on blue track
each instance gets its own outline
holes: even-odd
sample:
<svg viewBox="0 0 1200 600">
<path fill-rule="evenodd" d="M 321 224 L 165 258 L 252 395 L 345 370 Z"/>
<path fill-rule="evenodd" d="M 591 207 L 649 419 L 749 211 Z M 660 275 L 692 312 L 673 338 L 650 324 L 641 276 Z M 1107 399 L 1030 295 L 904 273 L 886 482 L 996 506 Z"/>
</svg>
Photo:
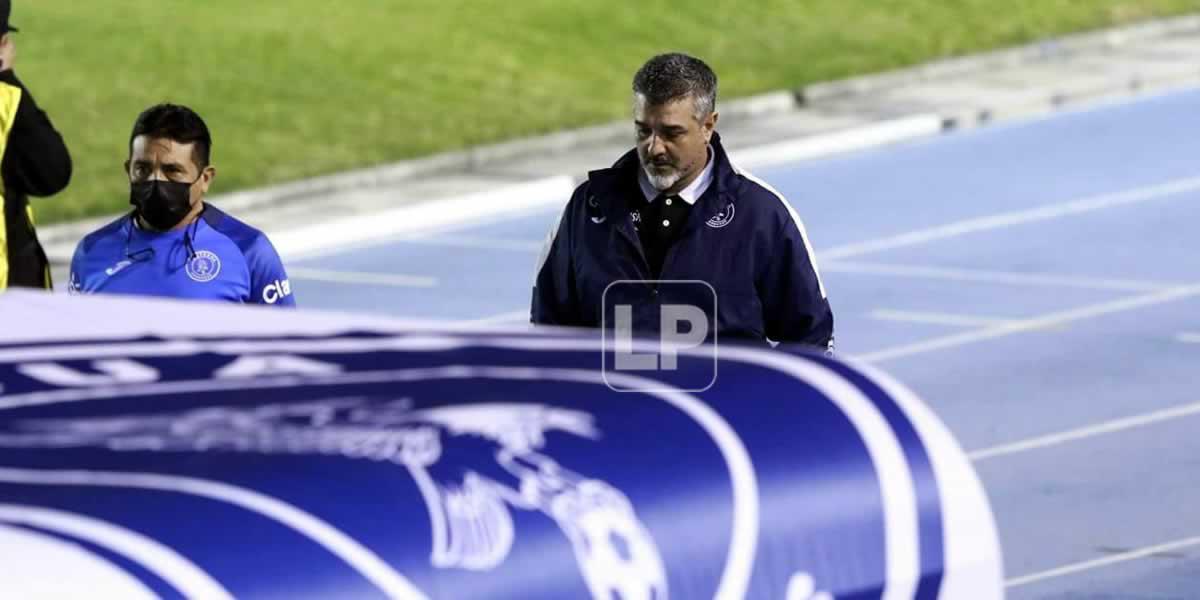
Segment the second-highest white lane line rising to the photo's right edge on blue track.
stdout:
<svg viewBox="0 0 1200 600">
<path fill-rule="evenodd" d="M 1163 289 L 1159 292 L 1152 292 L 1148 294 L 1128 296 L 1117 300 L 1111 300 L 1108 302 L 1093 304 L 1087 306 L 1080 306 L 1078 308 L 1052 312 L 1031 319 L 1022 319 L 1008 325 L 996 325 L 992 328 L 980 329 L 976 331 L 966 331 L 962 334 L 934 337 L 920 342 L 908 343 L 904 346 L 895 346 L 892 348 L 884 348 L 882 350 L 860 354 L 857 356 L 857 359 L 866 362 L 883 362 L 887 360 L 912 356 L 916 354 L 924 354 L 926 352 L 942 350 L 946 348 L 956 348 L 959 346 L 966 346 L 970 343 L 982 342 L 985 340 L 1006 337 L 1013 334 L 1022 334 L 1026 331 L 1034 331 L 1039 329 L 1050 329 L 1066 323 L 1103 317 L 1105 314 L 1112 314 L 1123 311 L 1132 311 L 1134 308 L 1141 308 L 1145 306 L 1172 302 L 1176 300 L 1183 300 L 1186 298 L 1193 298 L 1196 295 L 1200 295 L 1200 284 L 1180 286 L 1175 288 Z"/>
</svg>

